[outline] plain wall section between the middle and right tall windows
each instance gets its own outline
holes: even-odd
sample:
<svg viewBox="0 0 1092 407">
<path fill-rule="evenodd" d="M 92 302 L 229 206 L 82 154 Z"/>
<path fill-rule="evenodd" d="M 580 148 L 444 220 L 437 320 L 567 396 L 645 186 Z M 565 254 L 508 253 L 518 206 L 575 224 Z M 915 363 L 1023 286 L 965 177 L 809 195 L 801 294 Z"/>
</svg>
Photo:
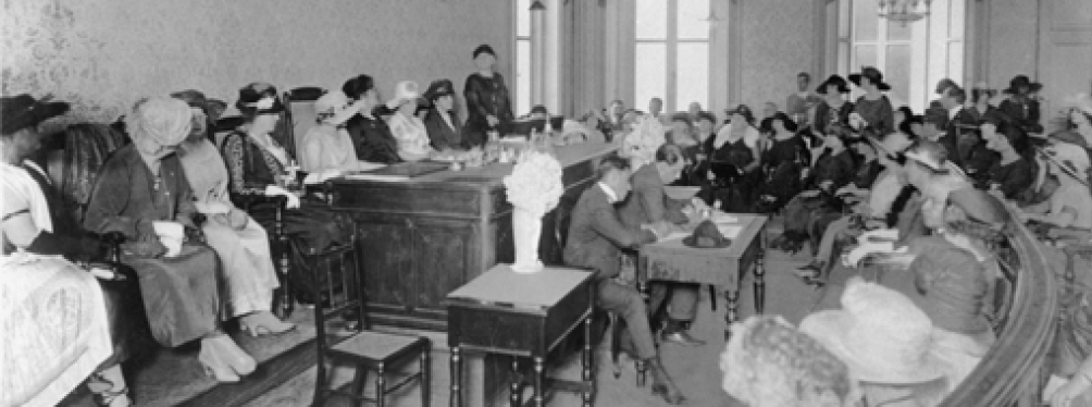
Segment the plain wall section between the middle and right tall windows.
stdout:
<svg viewBox="0 0 1092 407">
<path fill-rule="evenodd" d="M 810 0 L 738 0 L 743 5 L 743 100 L 759 115 L 767 101 L 784 109 L 796 92 L 796 74 L 811 70 L 812 4 Z M 812 85 L 822 79 L 812 79 Z"/>
</svg>

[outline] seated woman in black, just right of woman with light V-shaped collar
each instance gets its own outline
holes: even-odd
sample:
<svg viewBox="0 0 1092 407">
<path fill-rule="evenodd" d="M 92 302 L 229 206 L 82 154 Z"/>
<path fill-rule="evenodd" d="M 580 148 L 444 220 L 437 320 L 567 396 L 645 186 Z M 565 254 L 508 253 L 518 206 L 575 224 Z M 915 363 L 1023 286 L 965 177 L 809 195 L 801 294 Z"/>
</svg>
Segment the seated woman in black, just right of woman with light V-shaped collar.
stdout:
<svg viewBox="0 0 1092 407">
<path fill-rule="evenodd" d="M 774 113 L 770 128 L 773 137 L 762 154 L 765 177 L 759 187 L 759 205 L 763 213 L 776 212 L 796 196 L 800 192 L 804 171 L 811 165 L 811 152 L 804 137 L 796 132 L 796 122 L 788 115 Z"/>
</svg>

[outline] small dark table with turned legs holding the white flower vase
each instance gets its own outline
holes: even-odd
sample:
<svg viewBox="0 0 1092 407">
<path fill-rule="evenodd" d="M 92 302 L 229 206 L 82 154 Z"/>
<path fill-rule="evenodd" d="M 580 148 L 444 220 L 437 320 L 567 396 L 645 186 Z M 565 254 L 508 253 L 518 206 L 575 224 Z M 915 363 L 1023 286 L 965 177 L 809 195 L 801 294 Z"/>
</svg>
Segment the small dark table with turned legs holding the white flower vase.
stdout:
<svg viewBox="0 0 1092 407">
<path fill-rule="evenodd" d="M 463 405 L 464 349 L 512 356 L 509 400 L 519 406 L 523 381 L 519 358 L 534 360 L 534 406 L 544 403 L 546 355 L 581 322 L 584 347 L 581 381 L 553 380 L 559 390 L 582 393 L 583 405 L 595 398 L 592 361 L 593 273 L 581 268 L 546 267 L 536 274 L 517 274 L 498 264 L 448 295 L 448 345 L 451 347 L 451 406 Z"/>
</svg>

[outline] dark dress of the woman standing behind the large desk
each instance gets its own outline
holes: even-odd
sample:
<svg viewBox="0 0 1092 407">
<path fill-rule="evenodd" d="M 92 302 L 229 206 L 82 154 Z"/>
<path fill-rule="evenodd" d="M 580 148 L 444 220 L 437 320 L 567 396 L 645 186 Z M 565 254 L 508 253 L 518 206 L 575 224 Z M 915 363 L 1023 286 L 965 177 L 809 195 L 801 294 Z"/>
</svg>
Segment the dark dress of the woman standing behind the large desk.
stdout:
<svg viewBox="0 0 1092 407">
<path fill-rule="evenodd" d="M 485 144 L 488 140 L 487 131 L 503 131 L 514 119 L 508 86 L 505 85 L 505 77 L 500 73 L 495 72 L 492 76 L 487 77 L 475 72 L 466 76 L 463 97 L 466 98 L 467 110 L 463 140 L 471 147 Z M 489 127 L 489 121 L 486 119 L 489 116 L 500 121 L 497 125 L 499 129 Z"/>
</svg>

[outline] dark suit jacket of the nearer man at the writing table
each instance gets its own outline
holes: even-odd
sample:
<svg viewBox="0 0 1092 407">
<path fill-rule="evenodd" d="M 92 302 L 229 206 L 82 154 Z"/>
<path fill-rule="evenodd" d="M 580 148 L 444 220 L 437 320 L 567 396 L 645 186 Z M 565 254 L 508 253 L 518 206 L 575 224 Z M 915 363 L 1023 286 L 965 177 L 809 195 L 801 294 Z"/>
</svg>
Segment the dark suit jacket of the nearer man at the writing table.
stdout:
<svg viewBox="0 0 1092 407">
<path fill-rule="evenodd" d="M 621 268 L 618 255 L 622 248 L 656 240 L 651 231 L 622 225 L 618 212 L 598 184 L 589 187 L 580 195 L 570 222 L 565 263 L 594 268 L 598 279 L 618 275 Z"/>
</svg>

